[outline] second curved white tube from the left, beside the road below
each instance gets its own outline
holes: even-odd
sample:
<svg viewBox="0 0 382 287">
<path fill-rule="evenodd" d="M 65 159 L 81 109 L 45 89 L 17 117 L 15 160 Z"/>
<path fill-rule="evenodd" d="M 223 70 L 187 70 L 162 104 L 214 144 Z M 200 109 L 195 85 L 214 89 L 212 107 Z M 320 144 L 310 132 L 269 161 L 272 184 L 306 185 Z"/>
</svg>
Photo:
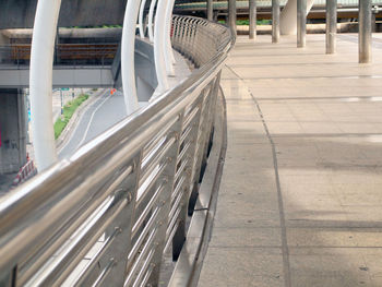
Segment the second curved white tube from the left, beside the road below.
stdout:
<svg viewBox="0 0 382 287">
<path fill-rule="evenodd" d="M 141 0 L 129 0 L 124 11 L 121 44 L 121 76 L 128 116 L 139 109 L 135 85 L 135 29 Z"/>
</svg>

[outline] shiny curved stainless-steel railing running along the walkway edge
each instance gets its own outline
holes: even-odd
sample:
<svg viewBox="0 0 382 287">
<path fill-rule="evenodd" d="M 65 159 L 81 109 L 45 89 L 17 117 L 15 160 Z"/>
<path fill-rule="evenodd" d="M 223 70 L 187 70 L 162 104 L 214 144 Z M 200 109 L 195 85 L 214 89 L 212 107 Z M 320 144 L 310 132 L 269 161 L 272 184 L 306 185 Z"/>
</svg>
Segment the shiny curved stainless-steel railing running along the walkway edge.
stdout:
<svg viewBox="0 0 382 287">
<path fill-rule="evenodd" d="M 186 238 L 234 41 L 175 16 L 174 45 L 200 68 L 0 201 L 1 286 L 158 285 L 164 252 L 177 258 Z"/>
</svg>

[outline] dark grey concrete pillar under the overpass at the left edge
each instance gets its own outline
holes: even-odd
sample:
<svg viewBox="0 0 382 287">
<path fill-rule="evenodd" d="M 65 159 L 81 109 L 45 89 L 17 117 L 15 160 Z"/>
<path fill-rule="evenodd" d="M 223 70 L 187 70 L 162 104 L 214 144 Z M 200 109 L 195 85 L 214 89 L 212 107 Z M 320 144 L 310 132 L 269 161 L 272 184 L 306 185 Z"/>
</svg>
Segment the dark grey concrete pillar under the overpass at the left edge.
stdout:
<svg viewBox="0 0 382 287">
<path fill-rule="evenodd" d="M 26 163 L 25 111 L 21 91 L 0 89 L 0 175 L 17 172 Z"/>
</svg>

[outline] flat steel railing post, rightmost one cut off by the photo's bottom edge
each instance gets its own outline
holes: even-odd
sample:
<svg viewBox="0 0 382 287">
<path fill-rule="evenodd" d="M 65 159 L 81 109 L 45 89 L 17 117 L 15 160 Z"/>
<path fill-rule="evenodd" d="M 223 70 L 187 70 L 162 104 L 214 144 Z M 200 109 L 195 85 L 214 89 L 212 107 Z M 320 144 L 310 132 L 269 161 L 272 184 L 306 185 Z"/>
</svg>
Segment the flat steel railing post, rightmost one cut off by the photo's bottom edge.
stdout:
<svg viewBox="0 0 382 287">
<path fill-rule="evenodd" d="M 153 264 L 154 268 L 150 276 L 148 284 L 152 286 L 158 286 L 159 282 L 159 272 L 160 272 L 160 263 L 162 263 L 162 256 L 165 250 L 166 241 L 167 241 L 167 228 L 168 223 L 171 218 L 169 218 L 169 213 L 171 210 L 171 194 L 174 192 L 174 181 L 175 181 L 175 174 L 177 169 L 177 162 L 178 162 L 178 155 L 179 155 L 179 147 L 180 147 L 180 136 L 182 131 L 182 124 L 183 124 L 183 111 L 179 113 L 178 121 L 174 124 L 171 130 L 169 131 L 169 134 L 174 134 L 176 137 L 176 142 L 174 143 L 174 148 L 170 148 L 167 155 L 167 166 L 164 170 L 163 178 L 166 180 L 166 187 L 162 194 L 159 195 L 158 201 L 162 204 L 160 213 L 159 215 L 159 227 L 157 231 L 157 240 L 156 240 L 156 249 L 153 256 Z"/>
</svg>

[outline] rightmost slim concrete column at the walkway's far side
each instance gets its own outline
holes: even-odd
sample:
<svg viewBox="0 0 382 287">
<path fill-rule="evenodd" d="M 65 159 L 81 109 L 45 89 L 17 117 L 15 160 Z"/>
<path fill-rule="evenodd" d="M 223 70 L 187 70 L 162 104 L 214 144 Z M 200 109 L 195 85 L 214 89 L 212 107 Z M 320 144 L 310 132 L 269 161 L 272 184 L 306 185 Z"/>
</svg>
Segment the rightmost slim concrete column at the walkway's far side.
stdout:
<svg viewBox="0 0 382 287">
<path fill-rule="evenodd" d="M 359 62 L 371 62 L 371 0 L 359 0 Z"/>
</svg>

